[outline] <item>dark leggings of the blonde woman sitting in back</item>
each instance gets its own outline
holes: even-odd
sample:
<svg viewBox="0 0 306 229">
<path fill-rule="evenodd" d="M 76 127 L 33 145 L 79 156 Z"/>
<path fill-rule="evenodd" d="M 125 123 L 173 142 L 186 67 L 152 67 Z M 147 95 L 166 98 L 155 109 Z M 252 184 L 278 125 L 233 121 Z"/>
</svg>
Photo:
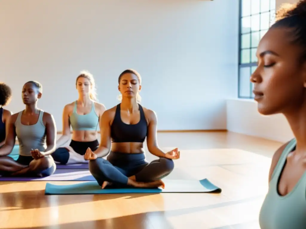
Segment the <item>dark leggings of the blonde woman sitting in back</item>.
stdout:
<svg viewBox="0 0 306 229">
<path fill-rule="evenodd" d="M 86 153 L 87 148 L 89 147 L 92 151 L 95 151 L 99 147 L 99 141 L 91 141 L 91 142 L 79 142 L 71 140 L 70 145 L 73 150 L 80 154 L 84 155 Z M 59 162 L 62 165 L 67 164 L 69 160 L 69 151 L 65 147 L 59 147 L 51 154 L 55 162 Z"/>
</svg>

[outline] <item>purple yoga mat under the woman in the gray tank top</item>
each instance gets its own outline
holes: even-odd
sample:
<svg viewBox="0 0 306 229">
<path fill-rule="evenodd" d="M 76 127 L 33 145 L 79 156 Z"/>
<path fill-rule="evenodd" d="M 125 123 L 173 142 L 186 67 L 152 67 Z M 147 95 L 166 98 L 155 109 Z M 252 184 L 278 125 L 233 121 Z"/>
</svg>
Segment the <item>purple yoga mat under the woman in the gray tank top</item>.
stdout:
<svg viewBox="0 0 306 229">
<path fill-rule="evenodd" d="M 88 169 L 56 169 L 54 174 L 47 177 L 5 177 L 0 181 L 94 181 Z"/>
</svg>

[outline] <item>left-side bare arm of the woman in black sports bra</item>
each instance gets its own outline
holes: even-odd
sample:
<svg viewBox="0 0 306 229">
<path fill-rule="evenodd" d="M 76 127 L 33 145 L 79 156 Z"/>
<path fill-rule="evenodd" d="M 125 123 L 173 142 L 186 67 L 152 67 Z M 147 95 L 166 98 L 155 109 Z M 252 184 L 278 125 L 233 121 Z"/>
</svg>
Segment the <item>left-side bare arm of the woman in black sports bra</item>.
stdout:
<svg viewBox="0 0 306 229">
<path fill-rule="evenodd" d="M 100 132 L 101 140 L 98 149 L 95 150 L 98 158 L 105 157 L 110 152 L 111 139 L 110 139 L 110 112 L 105 111 L 100 118 Z"/>
</svg>

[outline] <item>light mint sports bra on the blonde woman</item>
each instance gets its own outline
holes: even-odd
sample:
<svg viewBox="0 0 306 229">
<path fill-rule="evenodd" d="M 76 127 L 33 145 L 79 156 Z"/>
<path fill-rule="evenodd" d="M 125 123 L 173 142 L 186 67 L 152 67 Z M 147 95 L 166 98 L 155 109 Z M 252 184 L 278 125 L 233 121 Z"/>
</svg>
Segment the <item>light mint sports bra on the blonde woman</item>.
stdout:
<svg viewBox="0 0 306 229">
<path fill-rule="evenodd" d="M 86 115 L 79 115 L 76 112 L 76 102 L 73 112 L 69 117 L 70 125 L 73 130 L 97 130 L 99 116 L 95 112 L 95 104 L 92 103 L 91 111 Z"/>
</svg>

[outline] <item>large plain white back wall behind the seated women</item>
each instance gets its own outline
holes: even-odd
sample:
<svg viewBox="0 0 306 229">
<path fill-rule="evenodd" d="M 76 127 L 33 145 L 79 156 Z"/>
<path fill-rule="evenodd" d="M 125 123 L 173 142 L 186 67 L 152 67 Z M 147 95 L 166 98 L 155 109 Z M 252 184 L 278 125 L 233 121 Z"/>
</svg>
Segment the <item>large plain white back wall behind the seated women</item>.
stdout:
<svg viewBox="0 0 306 229">
<path fill-rule="evenodd" d="M 43 84 L 39 107 L 62 129 L 88 69 L 107 108 L 118 104 L 118 75 L 143 77 L 145 107 L 159 130 L 226 129 L 226 98 L 237 93 L 238 0 L 1 0 L 1 81 L 21 111 L 21 88 Z M 202 92 L 201 92 L 202 91 Z"/>
</svg>

